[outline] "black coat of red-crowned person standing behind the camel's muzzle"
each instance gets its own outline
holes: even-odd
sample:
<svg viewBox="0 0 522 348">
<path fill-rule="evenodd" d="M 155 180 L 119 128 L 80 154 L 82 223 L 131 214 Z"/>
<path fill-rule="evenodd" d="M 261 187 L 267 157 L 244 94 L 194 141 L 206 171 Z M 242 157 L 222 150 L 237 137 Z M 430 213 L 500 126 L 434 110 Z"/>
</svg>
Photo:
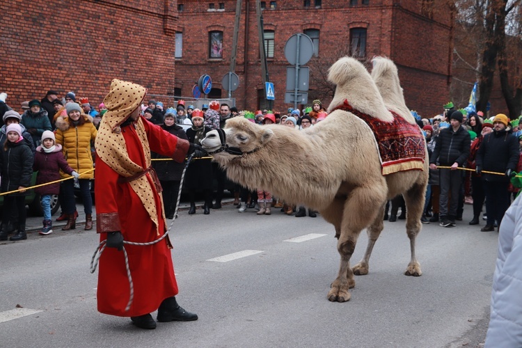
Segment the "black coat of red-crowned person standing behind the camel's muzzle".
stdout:
<svg viewBox="0 0 522 348">
<path fill-rule="evenodd" d="M 211 130 L 209 127 L 205 127 L 204 134 L 206 135 Z M 196 142 L 194 129 L 187 129 L 187 136 L 190 143 Z M 185 173 L 184 187 L 195 191 L 212 189 L 212 159 L 193 159 Z"/>
</svg>

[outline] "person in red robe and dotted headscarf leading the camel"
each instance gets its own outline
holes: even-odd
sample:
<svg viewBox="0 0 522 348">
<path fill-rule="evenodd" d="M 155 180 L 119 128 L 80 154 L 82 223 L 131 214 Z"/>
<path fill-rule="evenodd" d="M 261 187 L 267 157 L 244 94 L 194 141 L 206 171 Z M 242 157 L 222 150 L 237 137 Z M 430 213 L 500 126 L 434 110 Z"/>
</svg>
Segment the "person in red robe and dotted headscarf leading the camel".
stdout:
<svg viewBox="0 0 522 348">
<path fill-rule="evenodd" d="M 108 111 L 95 141 L 95 195 L 97 232 L 100 241 L 106 239 L 107 247 L 100 257 L 97 302 L 101 313 L 131 317 L 136 326 L 155 329 L 150 315 L 155 310 L 159 322 L 190 321 L 198 316 L 176 303 L 168 237 L 147 246 L 125 244 L 134 284 L 134 298 L 129 303 L 123 240 L 153 242 L 166 232 L 161 185 L 151 166 L 150 151 L 178 162 L 184 161 L 187 153 L 196 151 L 197 157 L 204 152 L 140 116 L 146 93 L 143 86 L 114 79 L 104 99 Z"/>
</svg>

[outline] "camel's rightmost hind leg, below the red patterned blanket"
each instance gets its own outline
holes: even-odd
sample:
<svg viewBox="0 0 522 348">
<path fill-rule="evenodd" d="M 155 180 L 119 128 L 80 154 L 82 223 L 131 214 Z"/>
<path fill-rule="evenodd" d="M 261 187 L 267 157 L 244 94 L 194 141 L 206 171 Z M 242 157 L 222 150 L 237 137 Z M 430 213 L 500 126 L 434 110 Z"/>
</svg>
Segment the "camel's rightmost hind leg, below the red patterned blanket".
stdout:
<svg viewBox="0 0 522 348">
<path fill-rule="evenodd" d="M 411 260 L 404 274 L 406 276 L 422 276 L 420 263 L 415 256 L 415 239 L 420 232 L 422 224 L 420 217 L 424 209 L 426 185 L 415 184 L 403 194 L 406 202 L 406 233 L 410 239 Z"/>
</svg>

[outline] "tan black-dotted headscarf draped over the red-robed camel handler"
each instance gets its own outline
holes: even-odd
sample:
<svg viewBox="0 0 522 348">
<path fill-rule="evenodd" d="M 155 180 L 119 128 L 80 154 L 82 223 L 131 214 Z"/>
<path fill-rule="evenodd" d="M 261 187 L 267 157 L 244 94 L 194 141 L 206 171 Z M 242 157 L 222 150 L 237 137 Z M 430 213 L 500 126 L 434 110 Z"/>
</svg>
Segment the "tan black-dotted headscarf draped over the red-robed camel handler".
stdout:
<svg viewBox="0 0 522 348">
<path fill-rule="evenodd" d="M 145 133 L 145 127 L 143 126 L 143 120 L 138 118 L 138 120 L 134 122 L 134 127 L 136 128 L 136 133 L 139 136 L 143 154 L 145 155 L 145 168 L 142 168 L 129 158 L 127 144 L 125 143 L 125 138 L 121 133 L 120 127 L 122 123 L 129 118 L 132 112 L 140 106 L 146 94 L 147 89 L 143 86 L 113 79 L 111 82 L 111 90 L 103 100 L 108 111 L 100 122 L 95 148 L 98 157 L 122 177 L 132 177 L 145 171 L 145 169 L 151 165 L 150 146 L 147 134 Z M 159 235 L 159 220 L 154 199 L 157 193 L 153 191 L 152 186 L 149 184 L 147 175 L 142 175 L 136 180 L 130 181 L 128 184 L 141 200 L 150 219 L 155 223 L 156 232 L 157 235 Z M 161 199 L 161 204 L 163 204 L 161 195 L 159 195 L 159 198 Z M 163 212 L 162 218 L 164 219 L 164 223 L 166 223 L 165 212 Z M 163 232 L 164 231 L 161 231 L 161 233 Z"/>
</svg>

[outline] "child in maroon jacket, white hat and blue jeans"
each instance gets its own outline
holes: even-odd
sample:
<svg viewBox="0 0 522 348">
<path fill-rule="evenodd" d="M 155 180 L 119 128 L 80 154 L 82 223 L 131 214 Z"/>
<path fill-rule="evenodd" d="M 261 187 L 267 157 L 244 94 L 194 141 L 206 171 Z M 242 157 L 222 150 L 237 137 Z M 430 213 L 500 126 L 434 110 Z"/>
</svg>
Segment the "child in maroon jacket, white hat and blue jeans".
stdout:
<svg viewBox="0 0 522 348">
<path fill-rule="evenodd" d="M 34 155 L 33 171 L 38 171 L 36 184 L 46 184 L 60 180 L 60 169 L 72 175 L 74 179 L 80 176 L 65 161 L 62 153 L 62 145 L 55 143 L 54 133 L 45 131 L 42 134 L 42 145 L 36 148 Z M 51 196 L 60 193 L 60 183 L 48 184 L 35 189 L 40 194 L 40 205 L 43 210 L 43 228 L 40 235 L 49 235 L 53 232 L 51 220 Z"/>
</svg>

